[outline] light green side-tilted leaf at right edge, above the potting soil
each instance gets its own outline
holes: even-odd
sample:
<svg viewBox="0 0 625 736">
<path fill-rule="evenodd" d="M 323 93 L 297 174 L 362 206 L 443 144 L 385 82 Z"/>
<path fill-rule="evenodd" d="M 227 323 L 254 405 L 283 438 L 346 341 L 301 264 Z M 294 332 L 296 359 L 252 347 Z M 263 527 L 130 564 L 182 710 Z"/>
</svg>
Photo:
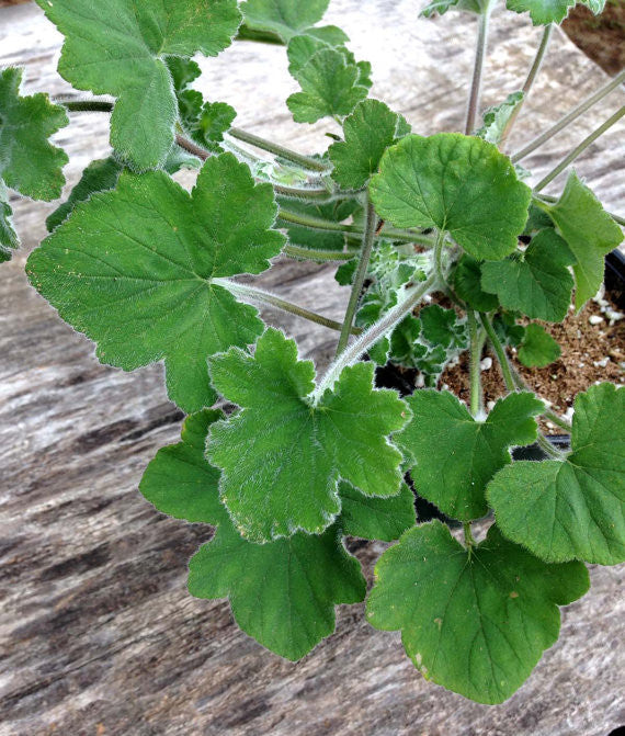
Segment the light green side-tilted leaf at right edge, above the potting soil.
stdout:
<svg viewBox="0 0 625 736">
<path fill-rule="evenodd" d="M 623 240 L 618 225 L 575 171 L 569 173 L 565 191 L 554 205 L 541 203 L 557 225 L 576 262 L 575 304 L 578 309 L 593 297 L 603 282 L 604 256 Z"/>
</svg>

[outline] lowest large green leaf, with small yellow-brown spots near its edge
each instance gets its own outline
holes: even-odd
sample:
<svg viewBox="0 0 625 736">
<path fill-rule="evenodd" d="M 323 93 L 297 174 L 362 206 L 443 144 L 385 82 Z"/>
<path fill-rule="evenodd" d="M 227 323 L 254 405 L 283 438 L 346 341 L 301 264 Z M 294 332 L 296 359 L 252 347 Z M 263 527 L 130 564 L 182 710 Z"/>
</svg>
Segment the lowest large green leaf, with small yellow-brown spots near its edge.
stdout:
<svg viewBox="0 0 625 736">
<path fill-rule="evenodd" d="M 479 703 L 518 690 L 558 638 L 558 605 L 581 598 L 581 563 L 547 565 L 497 526 L 467 551 L 439 521 L 406 532 L 376 567 L 367 620 L 401 631 L 423 677 Z"/>
</svg>

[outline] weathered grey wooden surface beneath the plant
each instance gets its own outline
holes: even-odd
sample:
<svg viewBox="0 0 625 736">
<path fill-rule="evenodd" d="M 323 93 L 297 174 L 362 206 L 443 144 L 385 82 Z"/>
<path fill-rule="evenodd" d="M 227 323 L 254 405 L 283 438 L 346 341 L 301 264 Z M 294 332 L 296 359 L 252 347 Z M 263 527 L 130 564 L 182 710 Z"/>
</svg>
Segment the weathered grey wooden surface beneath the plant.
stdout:
<svg viewBox="0 0 625 736">
<path fill-rule="evenodd" d="M 332 0 L 327 21 L 373 61 L 374 94 L 417 132 L 461 129 L 476 24 L 454 13 L 418 20 L 419 4 Z M 486 104 L 520 86 L 538 36 L 524 18 L 496 15 Z M 67 90 L 55 71 L 59 46 L 37 8 L 0 10 L 0 66 L 25 65 L 26 90 Z M 304 151 L 325 145 L 325 124 L 289 120 L 284 100 L 296 86 L 283 49 L 240 44 L 202 66 L 204 90 L 232 103 L 241 127 Z M 557 31 L 513 148 L 603 81 Z M 539 177 L 618 104 L 622 92 L 524 163 Z M 621 214 L 624 129 L 578 165 Z M 73 183 L 106 152 L 106 118 L 75 115 L 57 139 Z M 227 602 L 191 598 L 186 561 L 209 529 L 164 518 L 136 490 L 156 450 L 177 441 L 181 415 L 167 400 L 160 365 L 133 374 L 100 365 L 93 346 L 29 287 L 25 254 L 52 207 L 15 203 L 24 250 L 0 271 L 2 736 L 600 736 L 625 724 L 618 568 L 591 570 L 590 595 L 562 611 L 560 641 L 496 707 L 424 682 L 399 636 L 371 629 L 362 605 L 340 607 L 337 633 L 289 664 L 240 633 Z M 261 281 L 329 316 L 346 301 L 325 267 L 284 263 Z M 327 361 L 334 333 L 268 316 L 304 353 Z M 371 575 L 383 545 L 356 547 Z"/>
</svg>

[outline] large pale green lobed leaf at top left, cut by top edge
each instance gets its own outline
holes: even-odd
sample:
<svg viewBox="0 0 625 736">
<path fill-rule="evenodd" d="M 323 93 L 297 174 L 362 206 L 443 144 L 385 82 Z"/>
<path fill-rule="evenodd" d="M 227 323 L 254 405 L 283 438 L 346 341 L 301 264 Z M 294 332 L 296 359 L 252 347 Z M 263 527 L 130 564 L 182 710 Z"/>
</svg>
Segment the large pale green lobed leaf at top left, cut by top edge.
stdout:
<svg viewBox="0 0 625 736">
<path fill-rule="evenodd" d="M 241 14 L 236 0 L 37 0 L 66 36 L 58 70 L 80 90 L 117 98 L 111 145 L 140 169 L 161 165 L 177 104 L 170 56 L 216 56 Z"/>
</svg>

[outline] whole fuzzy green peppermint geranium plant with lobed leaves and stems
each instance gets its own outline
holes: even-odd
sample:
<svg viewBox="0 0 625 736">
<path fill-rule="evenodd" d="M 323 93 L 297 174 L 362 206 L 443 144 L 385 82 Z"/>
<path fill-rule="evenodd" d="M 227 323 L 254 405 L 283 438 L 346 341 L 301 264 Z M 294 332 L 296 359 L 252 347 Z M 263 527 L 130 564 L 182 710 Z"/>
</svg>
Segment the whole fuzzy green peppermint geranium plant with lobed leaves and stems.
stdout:
<svg viewBox="0 0 625 736">
<path fill-rule="evenodd" d="M 542 191 L 625 107 L 542 181 L 529 184 L 520 162 L 624 73 L 505 152 L 575 0 L 508 0 L 544 34 L 523 89 L 501 90 L 487 111 L 495 0 L 428 5 L 425 16 L 456 10 L 479 22 L 465 131 L 431 136 L 370 98 L 370 64 L 342 30 L 319 24 L 329 0 L 109 0 L 105 14 L 96 0 L 37 1 L 65 36 L 61 76 L 107 97 L 24 97 L 22 71 L 0 72 L 0 254 L 19 245 L 8 190 L 59 197 L 68 158 L 49 136 L 68 113 L 110 113 L 111 155 L 48 217 L 26 271 L 103 363 L 163 361 L 167 394 L 189 416 L 139 489 L 160 511 L 207 524 L 190 592 L 228 598 L 247 634 L 296 660 L 332 633 L 338 603 L 365 599 L 345 537 L 395 542 L 375 568 L 368 622 L 401 631 L 434 682 L 482 703 L 509 698 L 557 639 L 559 607 L 587 592 L 584 563 L 625 559 L 625 389 L 579 394 L 571 426 L 507 351 L 515 344 L 527 365 L 553 361 L 559 348 L 541 322 L 561 321 L 573 294 L 580 309 L 596 293 L 623 238 L 623 220 L 573 170 L 558 197 Z M 241 131 L 230 105 L 193 88 L 193 57 L 232 41 L 285 47 L 300 87 L 286 105 L 298 123 L 327 121 L 327 150 L 304 156 Z M 196 170 L 191 192 L 172 179 L 181 167 Z M 340 322 L 238 279 L 281 253 L 337 265 L 350 293 Z M 259 306 L 337 330 L 329 367 L 317 374 Z M 507 387 L 488 412 L 487 342 Z M 438 386 L 467 351 L 465 406 Z M 385 364 L 416 369 L 407 375 L 419 387 L 404 398 L 378 387 Z M 570 432 L 570 450 L 549 443 L 539 417 Z M 544 460 L 512 461 L 512 448 L 535 442 Z M 414 492 L 450 523 L 416 518 Z"/>
</svg>

